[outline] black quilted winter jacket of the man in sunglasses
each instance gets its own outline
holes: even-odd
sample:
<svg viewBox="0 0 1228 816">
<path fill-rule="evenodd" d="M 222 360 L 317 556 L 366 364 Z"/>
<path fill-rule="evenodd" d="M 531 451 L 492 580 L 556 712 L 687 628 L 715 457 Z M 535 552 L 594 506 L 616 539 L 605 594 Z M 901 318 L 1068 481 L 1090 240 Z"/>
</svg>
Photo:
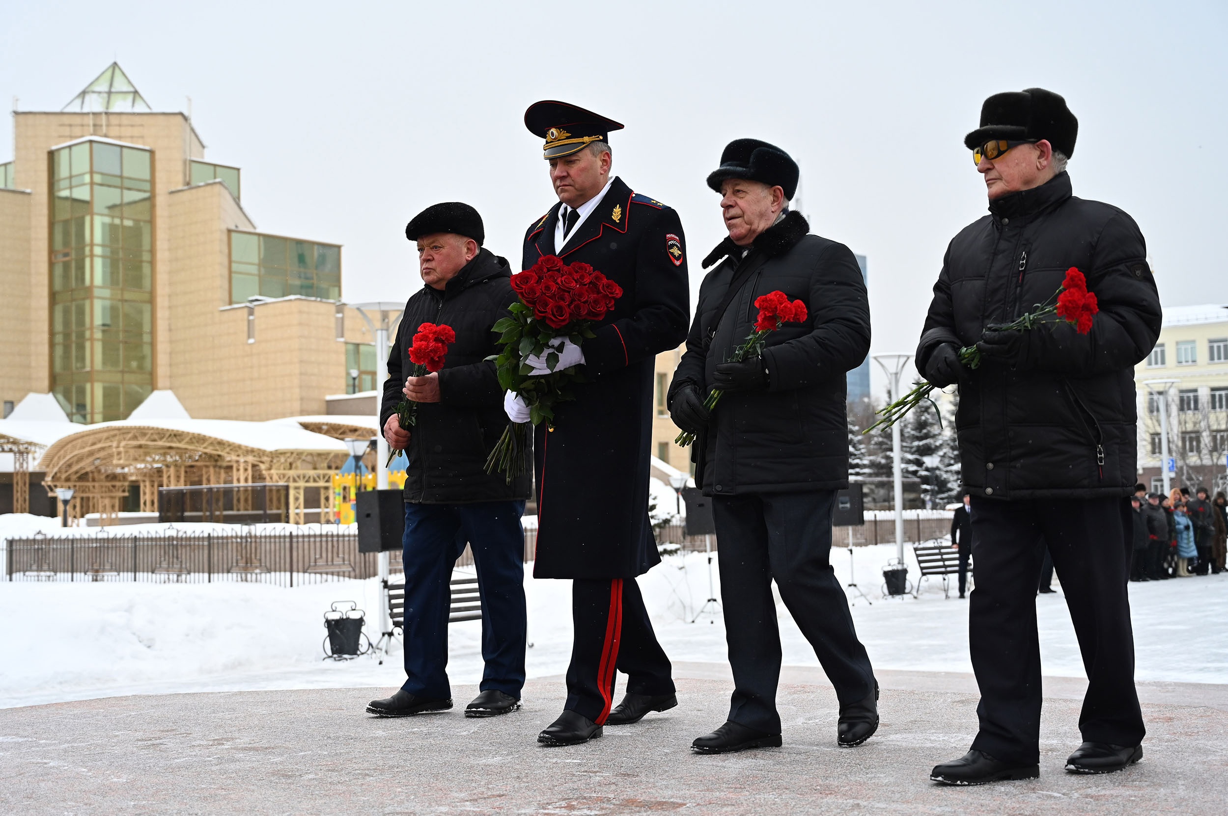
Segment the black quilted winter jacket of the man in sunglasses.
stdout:
<svg viewBox="0 0 1228 816">
<path fill-rule="evenodd" d="M 944 342 L 1046 301 L 1077 266 L 1099 299 L 1089 335 L 1066 324 L 1025 331 L 1012 364 L 964 368 L 955 426 L 963 482 L 1005 499 L 1129 496 L 1136 481 L 1133 366 L 1159 336 L 1147 247 L 1117 207 L 1071 195 L 1060 173 L 990 204 L 947 248 L 917 346 L 925 371 Z"/>
</svg>

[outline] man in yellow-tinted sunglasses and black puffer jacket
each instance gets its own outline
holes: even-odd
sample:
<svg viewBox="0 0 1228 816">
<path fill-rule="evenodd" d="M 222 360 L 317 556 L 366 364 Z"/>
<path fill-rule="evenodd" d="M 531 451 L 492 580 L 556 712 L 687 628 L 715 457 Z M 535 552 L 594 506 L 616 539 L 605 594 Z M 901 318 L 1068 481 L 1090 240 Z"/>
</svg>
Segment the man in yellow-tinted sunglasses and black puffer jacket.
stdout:
<svg viewBox="0 0 1228 816">
<path fill-rule="evenodd" d="M 976 588 L 969 649 L 981 691 L 971 750 L 935 767 L 946 784 L 1040 774 L 1036 577 L 1047 551 L 1083 652 L 1088 690 L 1073 773 L 1142 757 L 1126 582 L 1136 481 L 1133 367 L 1160 307 L 1135 221 L 1074 198 L 1066 161 L 1078 121 L 1043 88 L 997 93 L 968 134 L 990 215 L 950 242 L 917 346 L 917 369 L 959 387 L 959 453 L 971 492 Z M 1051 302 L 1070 268 L 1099 301 L 1089 334 L 1065 321 L 995 329 Z M 977 368 L 959 360 L 975 345 Z"/>
</svg>

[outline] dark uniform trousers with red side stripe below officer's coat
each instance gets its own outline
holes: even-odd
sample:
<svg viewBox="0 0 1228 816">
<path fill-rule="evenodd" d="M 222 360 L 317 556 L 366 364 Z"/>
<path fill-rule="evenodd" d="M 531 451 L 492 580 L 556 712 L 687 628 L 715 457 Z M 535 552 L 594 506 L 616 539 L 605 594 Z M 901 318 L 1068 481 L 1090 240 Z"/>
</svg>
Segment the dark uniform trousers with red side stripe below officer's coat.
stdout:
<svg viewBox="0 0 1228 816">
<path fill-rule="evenodd" d="M 598 725 L 614 702 L 615 669 L 632 695 L 672 695 L 672 666 L 652 631 L 634 578 L 571 582 L 575 627 L 567 666 L 567 710 Z"/>
</svg>

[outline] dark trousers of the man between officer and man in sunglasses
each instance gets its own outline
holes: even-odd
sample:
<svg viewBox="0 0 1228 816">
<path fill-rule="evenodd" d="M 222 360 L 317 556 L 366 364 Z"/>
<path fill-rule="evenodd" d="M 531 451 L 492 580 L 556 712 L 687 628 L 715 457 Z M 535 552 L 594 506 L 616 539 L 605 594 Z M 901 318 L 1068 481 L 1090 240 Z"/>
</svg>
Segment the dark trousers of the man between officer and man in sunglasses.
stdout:
<svg viewBox="0 0 1228 816">
<path fill-rule="evenodd" d="M 874 671 L 857 639 L 849 599 L 831 571 L 835 491 L 715 496 L 721 542 L 721 605 L 734 691 L 729 720 L 780 734 L 780 628 L 771 582 L 814 647 L 840 704 L 874 693 Z"/>
</svg>

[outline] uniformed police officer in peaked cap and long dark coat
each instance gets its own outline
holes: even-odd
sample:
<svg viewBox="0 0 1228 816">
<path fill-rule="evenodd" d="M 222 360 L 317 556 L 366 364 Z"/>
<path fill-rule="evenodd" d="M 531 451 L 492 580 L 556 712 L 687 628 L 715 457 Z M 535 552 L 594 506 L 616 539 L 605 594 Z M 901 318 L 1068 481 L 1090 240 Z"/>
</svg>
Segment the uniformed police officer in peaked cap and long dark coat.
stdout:
<svg viewBox="0 0 1228 816">
<path fill-rule="evenodd" d="M 648 522 L 653 363 L 686 336 L 686 256 L 678 214 L 610 175 L 609 133 L 623 125 L 562 102 L 530 106 L 524 124 L 545 140 L 559 204 L 529 226 L 522 269 L 558 255 L 623 287 L 597 336 L 560 350 L 559 366 L 582 364 L 591 382 L 576 385 L 575 401 L 554 409 L 554 429 L 539 425 L 534 438 L 533 575 L 572 579 L 575 623 L 567 702 L 538 741 L 576 745 L 603 725 L 677 706 L 635 578 L 661 561 Z M 628 675 L 616 708 L 615 669 Z"/>
</svg>

